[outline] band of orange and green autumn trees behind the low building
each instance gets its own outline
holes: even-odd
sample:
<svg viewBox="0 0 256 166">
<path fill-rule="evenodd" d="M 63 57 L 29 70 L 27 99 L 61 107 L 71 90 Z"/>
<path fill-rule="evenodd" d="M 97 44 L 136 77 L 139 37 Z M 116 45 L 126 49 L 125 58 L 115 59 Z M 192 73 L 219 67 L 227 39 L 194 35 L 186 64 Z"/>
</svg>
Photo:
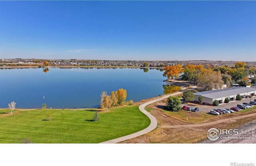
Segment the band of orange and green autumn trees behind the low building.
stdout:
<svg viewBox="0 0 256 166">
<path fill-rule="evenodd" d="M 248 83 L 249 79 L 247 75 L 254 75 L 256 68 L 246 65 L 245 62 L 236 62 L 233 67 L 214 67 L 213 65 L 204 67 L 203 65 L 194 64 L 188 64 L 184 67 L 181 64 L 165 66 L 163 76 L 173 79 L 182 73 L 184 73 L 182 80 L 198 85 L 204 90 L 218 89 L 223 84 L 227 84 L 227 87 L 230 87 L 235 83 L 240 86 L 248 86 L 256 83 L 256 78 L 252 78 L 252 82 Z"/>
</svg>

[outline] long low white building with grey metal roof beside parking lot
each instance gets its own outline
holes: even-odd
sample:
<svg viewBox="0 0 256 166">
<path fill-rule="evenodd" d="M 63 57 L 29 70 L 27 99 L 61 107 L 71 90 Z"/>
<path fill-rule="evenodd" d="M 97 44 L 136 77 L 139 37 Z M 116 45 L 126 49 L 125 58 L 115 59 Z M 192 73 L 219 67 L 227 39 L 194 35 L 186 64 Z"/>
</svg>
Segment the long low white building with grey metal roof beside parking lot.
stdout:
<svg viewBox="0 0 256 166">
<path fill-rule="evenodd" d="M 203 104 L 205 105 L 212 105 L 214 100 L 217 100 L 220 104 L 224 103 L 225 98 L 228 98 L 230 101 L 236 100 L 236 95 L 240 94 L 242 98 L 246 98 L 249 95 L 255 96 L 256 88 L 250 87 L 231 87 L 231 88 L 224 88 L 218 90 L 208 90 L 204 92 L 196 92 L 194 93 L 195 99 L 193 102 L 198 101 L 198 96 L 203 96 Z"/>
</svg>

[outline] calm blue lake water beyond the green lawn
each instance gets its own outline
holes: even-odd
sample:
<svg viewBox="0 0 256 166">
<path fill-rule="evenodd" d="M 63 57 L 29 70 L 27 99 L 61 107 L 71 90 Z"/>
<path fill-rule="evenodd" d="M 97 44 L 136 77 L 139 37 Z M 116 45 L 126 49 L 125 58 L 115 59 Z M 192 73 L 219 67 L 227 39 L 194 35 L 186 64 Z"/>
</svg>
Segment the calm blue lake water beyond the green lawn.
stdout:
<svg viewBox="0 0 256 166">
<path fill-rule="evenodd" d="M 163 72 L 140 68 L 43 68 L 0 70 L 0 108 L 15 101 L 16 108 L 99 107 L 100 94 L 119 88 L 127 90 L 126 100 L 164 94 Z"/>
</svg>

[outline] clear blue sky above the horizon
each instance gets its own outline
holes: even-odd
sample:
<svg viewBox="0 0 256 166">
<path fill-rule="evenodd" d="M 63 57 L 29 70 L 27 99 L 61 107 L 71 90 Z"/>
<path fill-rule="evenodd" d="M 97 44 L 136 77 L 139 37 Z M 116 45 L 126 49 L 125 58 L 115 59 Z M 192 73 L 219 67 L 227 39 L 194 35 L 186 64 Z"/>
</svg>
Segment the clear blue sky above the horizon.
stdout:
<svg viewBox="0 0 256 166">
<path fill-rule="evenodd" d="M 256 1 L 0 1 L 0 58 L 256 61 Z"/>
</svg>

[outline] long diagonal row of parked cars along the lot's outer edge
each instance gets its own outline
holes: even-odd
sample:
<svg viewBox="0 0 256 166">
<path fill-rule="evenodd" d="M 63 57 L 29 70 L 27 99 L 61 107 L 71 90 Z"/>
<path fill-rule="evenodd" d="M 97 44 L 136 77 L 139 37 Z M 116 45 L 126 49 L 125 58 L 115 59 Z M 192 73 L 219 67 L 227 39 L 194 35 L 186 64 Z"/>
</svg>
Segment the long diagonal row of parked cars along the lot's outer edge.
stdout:
<svg viewBox="0 0 256 166">
<path fill-rule="evenodd" d="M 225 109 L 213 109 L 209 113 L 213 115 L 220 115 L 220 114 L 225 114 L 225 113 L 234 113 L 235 111 L 240 111 L 242 109 L 247 109 L 252 107 L 252 105 L 256 105 L 256 99 L 250 103 L 243 103 L 243 104 L 238 104 L 236 107 L 231 107 L 231 108 L 225 108 Z"/>
</svg>

